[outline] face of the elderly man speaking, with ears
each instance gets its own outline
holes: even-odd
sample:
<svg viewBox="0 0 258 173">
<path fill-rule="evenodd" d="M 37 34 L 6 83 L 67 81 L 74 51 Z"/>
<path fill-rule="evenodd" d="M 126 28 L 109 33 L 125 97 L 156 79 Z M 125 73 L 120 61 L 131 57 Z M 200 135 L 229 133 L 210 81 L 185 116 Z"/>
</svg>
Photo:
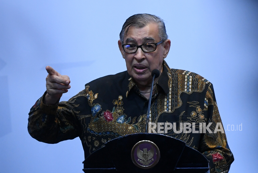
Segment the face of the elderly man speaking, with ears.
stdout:
<svg viewBox="0 0 258 173">
<path fill-rule="evenodd" d="M 159 29 L 157 24 L 150 23 L 143 28 L 131 27 L 127 35 L 124 36 L 123 44 L 146 44 L 158 43 Z M 166 58 L 170 48 L 170 40 L 165 40 L 163 44 L 158 44 L 154 52 L 145 53 L 138 48 L 136 53 L 126 53 L 122 48 L 122 43 L 118 41 L 119 49 L 126 61 L 127 72 L 140 85 L 150 85 L 152 81 L 151 72 L 158 69 L 162 72 L 163 58 Z"/>
</svg>

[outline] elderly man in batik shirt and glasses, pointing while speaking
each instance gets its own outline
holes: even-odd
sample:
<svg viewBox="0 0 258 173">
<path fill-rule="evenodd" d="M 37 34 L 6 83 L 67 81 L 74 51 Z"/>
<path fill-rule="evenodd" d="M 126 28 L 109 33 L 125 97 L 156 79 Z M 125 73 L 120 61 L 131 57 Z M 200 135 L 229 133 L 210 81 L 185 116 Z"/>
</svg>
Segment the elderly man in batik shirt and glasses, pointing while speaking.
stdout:
<svg viewBox="0 0 258 173">
<path fill-rule="evenodd" d="M 69 101 L 59 102 L 70 88 L 69 77 L 47 66 L 47 91 L 29 113 L 30 135 L 45 143 L 79 136 L 86 158 L 111 139 L 144 133 L 151 72 L 158 69 L 160 75 L 154 80 L 150 123 L 155 126 L 159 122 L 176 124 L 174 130 L 161 133 L 200 151 L 210 160 L 210 172 L 228 172 L 234 159 L 223 131 L 213 86 L 196 73 L 170 69 L 164 61 L 170 43 L 161 18 L 150 14 L 129 17 L 118 40 L 127 71 L 87 83 L 85 89 Z M 209 128 L 204 129 L 217 131 L 180 132 L 180 123 L 209 123 Z M 200 126 L 195 126 L 197 131 Z"/>
</svg>

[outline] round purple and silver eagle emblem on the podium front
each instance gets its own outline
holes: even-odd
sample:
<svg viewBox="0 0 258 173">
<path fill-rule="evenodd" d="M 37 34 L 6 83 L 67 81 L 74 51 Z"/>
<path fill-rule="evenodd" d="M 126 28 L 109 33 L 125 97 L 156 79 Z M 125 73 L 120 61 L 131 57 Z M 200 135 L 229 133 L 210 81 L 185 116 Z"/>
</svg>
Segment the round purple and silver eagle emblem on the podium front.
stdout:
<svg viewBox="0 0 258 173">
<path fill-rule="evenodd" d="M 140 141 L 132 148 L 131 159 L 141 169 L 152 168 L 160 159 L 159 148 L 151 141 Z"/>
</svg>

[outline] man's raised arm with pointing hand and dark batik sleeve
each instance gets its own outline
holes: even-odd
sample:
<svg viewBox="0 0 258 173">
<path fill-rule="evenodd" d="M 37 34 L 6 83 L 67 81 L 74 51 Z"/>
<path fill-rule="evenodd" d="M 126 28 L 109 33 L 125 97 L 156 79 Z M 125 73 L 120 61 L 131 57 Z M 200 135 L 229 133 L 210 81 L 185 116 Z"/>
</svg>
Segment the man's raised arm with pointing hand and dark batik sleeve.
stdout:
<svg viewBox="0 0 258 173">
<path fill-rule="evenodd" d="M 28 131 L 33 138 L 45 143 L 76 138 L 77 119 L 73 111 L 75 99 L 72 103 L 59 103 L 62 94 L 71 88 L 70 79 L 60 75 L 52 67 L 47 66 L 46 70 L 47 91 L 30 109 Z"/>
</svg>

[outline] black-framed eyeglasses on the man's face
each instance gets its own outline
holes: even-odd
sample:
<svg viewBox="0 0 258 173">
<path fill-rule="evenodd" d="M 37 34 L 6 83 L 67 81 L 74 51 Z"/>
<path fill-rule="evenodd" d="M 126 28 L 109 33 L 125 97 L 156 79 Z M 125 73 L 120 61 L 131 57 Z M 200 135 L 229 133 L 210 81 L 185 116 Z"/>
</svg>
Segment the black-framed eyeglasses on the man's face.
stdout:
<svg viewBox="0 0 258 173">
<path fill-rule="evenodd" d="M 141 48 L 143 52 L 154 52 L 157 49 L 157 45 L 162 42 L 163 41 L 160 41 L 159 43 L 147 43 L 142 45 L 122 44 L 122 47 L 126 53 L 136 53 L 138 48 Z"/>
</svg>

